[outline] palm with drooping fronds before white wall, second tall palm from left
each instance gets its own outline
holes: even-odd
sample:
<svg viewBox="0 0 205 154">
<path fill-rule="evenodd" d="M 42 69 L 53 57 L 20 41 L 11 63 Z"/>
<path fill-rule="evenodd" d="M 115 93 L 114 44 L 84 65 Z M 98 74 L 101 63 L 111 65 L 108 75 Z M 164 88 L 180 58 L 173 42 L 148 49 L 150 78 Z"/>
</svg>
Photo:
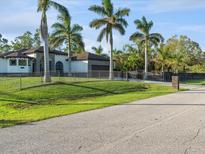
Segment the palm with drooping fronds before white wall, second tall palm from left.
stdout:
<svg viewBox="0 0 205 154">
<path fill-rule="evenodd" d="M 84 51 L 84 43 L 80 33 L 83 28 L 78 24 L 71 25 L 71 16 L 68 10 L 65 10 L 58 16 L 58 21 L 52 25 L 54 32 L 51 34 L 51 44 L 53 48 L 66 45 L 70 74 L 72 53 L 76 49 Z"/>
</svg>

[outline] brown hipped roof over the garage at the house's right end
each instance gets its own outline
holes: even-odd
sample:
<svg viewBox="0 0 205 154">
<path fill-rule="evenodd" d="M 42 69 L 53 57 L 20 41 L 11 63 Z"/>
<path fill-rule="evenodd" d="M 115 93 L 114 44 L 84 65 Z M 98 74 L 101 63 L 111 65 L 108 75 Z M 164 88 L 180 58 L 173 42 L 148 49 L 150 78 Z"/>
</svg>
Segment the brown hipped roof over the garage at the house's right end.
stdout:
<svg viewBox="0 0 205 154">
<path fill-rule="evenodd" d="M 96 55 L 90 52 L 82 52 L 80 54 L 74 55 L 72 60 L 98 60 L 98 61 L 109 61 L 109 57 Z"/>
</svg>

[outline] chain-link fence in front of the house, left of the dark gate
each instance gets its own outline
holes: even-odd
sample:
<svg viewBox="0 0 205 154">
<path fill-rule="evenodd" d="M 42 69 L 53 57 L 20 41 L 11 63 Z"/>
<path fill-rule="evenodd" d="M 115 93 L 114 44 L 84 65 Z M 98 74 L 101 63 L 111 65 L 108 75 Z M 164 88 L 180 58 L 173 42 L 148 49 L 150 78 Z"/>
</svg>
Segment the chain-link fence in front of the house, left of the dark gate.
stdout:
<svg viewBox="0 0 205 154">
<path fill-rule="evenodd" d="M 126 80 L 125 72 L 113 72 L 115 80 Z M 108 80 L 108 71 L 92 71 L 88 73 L 62 73 L 51 72 L 51 83 L 56 82 L 86 82 L 96 80 Z M 0 74 L 0 94 L 13 92 L 28 87 L 44 85 L 43 73 L 12 73 Z"/>
</svg>

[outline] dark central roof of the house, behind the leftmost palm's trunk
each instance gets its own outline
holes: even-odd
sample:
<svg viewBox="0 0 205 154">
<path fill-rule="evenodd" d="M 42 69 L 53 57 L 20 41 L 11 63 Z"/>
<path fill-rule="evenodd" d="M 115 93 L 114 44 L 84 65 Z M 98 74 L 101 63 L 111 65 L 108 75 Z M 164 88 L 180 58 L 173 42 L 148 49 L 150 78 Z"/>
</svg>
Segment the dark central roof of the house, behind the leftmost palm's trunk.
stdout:
<svg viewBox="0 0 205 154">
<path fill-rule="evenodd" d="M 43 47 L 39 47 L 39 48 L 32 48 L 32 49 L 28 49 L 26 51 L 24 51 L 24 54 L 31 54 L 31 53 L 43 53 L 44 49 Z M 63 55 L 63 56 L 67 56 L 68 54 L 62 51 L 58 51 L 58 50 L 50 50 L 49 49 L 49 53 L 51 54 L 55 54 L 55 55 Z"/>
</svg>

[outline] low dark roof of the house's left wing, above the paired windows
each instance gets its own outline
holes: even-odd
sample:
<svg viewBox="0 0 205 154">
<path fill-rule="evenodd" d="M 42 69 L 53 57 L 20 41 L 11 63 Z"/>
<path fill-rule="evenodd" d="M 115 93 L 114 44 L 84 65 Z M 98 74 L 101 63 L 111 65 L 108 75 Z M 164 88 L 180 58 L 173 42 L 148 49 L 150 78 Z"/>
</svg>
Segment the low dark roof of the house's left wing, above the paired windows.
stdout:
<svg viewBox="0 0 205 154">
<path fill-rule="evenodd" d="M 21 49 L 21 50 L 6 52 L 3 54 L 0 54 L 0 57 L 1 58 L 30 58 L 30 59 L 32 59 L 31 57 L 29 57 L 23 53 L 26 50 L 27 49 Z"/>
</svg>

